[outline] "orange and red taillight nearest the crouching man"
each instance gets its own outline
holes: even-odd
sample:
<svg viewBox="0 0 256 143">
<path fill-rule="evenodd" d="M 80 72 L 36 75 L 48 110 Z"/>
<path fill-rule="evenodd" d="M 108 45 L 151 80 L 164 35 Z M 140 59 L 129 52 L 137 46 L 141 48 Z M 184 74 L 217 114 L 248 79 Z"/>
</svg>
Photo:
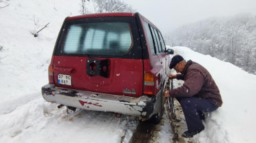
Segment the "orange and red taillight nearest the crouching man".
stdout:
<svg viewBox="0 0 256 143">
<path fill-rule="evenodd" d="M 154 95 L 155 81 L 154 75 L 151 73 L 144 73 L 144 90 L 143 93 L 146 95 Z"/>
</svg>

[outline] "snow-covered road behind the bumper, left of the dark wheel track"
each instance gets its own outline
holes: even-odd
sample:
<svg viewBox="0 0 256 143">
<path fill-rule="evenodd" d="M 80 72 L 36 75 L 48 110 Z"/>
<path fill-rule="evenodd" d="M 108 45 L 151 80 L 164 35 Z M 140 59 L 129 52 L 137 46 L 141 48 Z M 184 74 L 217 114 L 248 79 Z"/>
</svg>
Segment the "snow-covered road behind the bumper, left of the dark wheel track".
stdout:
<svg viewBox="0 0 256 143">
<path fill-rule="evenodd" d="M 1 142 L 128 142 L 138 123 L 110 112 L 67 114 L 66 107 L 47 103 L 40 92 L 1 103 L 0 109 Z"/>
</svg>

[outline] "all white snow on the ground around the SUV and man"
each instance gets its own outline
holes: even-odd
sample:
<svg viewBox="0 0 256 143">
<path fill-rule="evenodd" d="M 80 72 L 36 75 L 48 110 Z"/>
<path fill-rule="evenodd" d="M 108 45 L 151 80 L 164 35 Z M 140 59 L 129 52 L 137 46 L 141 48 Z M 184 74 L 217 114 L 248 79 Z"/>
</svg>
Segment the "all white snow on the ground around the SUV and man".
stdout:
<svg viewBox="0 0 256 143">
<path fill-rule="evenodd" d="M 47 103 L 41 86 L 65 17 L 79 15 L 79 0 L 11 0 L 0 6 L 0 142 L 129 142 L 138 121 L 114 113 L 77 110 Z M 32 33 L 48 27 L 34 38 Z M 36 23 L 36 24 L 35 24 Z M 187 47 L 170 47 L 184 59 L 206 67 L 222 94 L 223 105 L 210 114 L 196 142 L 254 142 L 256 75 Z M 171 142 L 169 123 L 159 142 Z M 185 131 L 185 130 L 184 130 Z M 167 137 L 168 136 L 168 137 Z"/>
</svg>

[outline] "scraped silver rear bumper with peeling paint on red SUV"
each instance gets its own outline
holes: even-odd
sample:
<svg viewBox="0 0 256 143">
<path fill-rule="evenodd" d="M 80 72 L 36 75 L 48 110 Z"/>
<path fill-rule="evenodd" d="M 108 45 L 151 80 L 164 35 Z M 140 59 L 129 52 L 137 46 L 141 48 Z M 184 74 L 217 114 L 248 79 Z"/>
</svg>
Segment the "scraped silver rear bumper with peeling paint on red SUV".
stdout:
<svg viewBox="0 0 256 143">
<path fill-rule="evenodd" d="M 83 110 L 116 112 L 149 119 L 156 111 L 156 97 L 141 96 L 140 98 L 119 96 L 106 93 L 95 93 L 57 87 L 46 84 L 42 87 L 43 98 L 50 103 L 77 107 Z"/>
</svg>

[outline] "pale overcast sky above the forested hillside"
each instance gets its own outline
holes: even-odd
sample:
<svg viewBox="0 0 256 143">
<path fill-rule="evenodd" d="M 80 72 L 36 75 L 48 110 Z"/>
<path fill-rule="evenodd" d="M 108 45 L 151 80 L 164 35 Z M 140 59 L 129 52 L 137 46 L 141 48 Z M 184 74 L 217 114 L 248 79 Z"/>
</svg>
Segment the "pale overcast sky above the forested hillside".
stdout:
<svg viewBox="0 0 256 143">
<path fill-rule="evenodd" d="M 126 0 L 124 2 L 147 17 L 163 34 L 182 24 L 197 22 L 208 17 L 239 13 L 256 15 L 256 0 Z"/>
</svg>

